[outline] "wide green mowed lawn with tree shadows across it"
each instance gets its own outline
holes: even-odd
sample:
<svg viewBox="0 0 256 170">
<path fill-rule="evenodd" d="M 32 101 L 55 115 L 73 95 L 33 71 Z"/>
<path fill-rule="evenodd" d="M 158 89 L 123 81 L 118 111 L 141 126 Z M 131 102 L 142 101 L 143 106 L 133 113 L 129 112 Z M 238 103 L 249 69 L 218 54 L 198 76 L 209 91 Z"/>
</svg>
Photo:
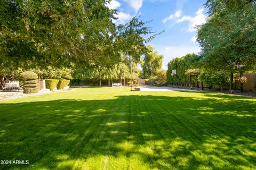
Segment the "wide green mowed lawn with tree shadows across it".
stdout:
<svg viewBox="0 0 256 170">
<path fill-rule="evenodd" d="M 83 88 L 0 101 L 0 169 L 256 169 L 256 99 Z"/>
</svg>

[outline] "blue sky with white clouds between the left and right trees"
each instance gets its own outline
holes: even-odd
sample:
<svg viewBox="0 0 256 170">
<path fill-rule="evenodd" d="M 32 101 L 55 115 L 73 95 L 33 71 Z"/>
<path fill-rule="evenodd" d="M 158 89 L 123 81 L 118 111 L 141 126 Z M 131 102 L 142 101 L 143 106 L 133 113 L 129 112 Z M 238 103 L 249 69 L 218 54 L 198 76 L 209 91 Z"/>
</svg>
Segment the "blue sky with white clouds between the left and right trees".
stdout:
<svg viewBox="0 0 256 170">
<path fill-rule="evenodd" d="M 206 0 L 111 0 L 109 8 L 118 10 L 115 23 L 126 23 L 137 12 L 143 21 L 153 20 L 147 24 L 153 31 L 161 32 L 150 45 L 158 54 L 164 55 L 163 69 L 174 57 L 187 53 L 198 53 L 200 47 L 195 43 L 195 25 L 205 22 Z"/>
</svg>

